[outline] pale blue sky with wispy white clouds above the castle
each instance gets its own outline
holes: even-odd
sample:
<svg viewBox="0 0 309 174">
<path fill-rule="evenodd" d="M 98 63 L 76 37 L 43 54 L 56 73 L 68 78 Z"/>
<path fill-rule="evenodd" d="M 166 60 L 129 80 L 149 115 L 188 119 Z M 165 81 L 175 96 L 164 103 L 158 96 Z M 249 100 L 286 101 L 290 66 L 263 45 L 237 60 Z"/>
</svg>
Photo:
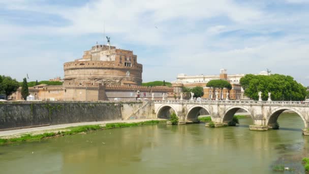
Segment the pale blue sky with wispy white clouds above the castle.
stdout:
<svg viewBox="0 0 309 174">
<path fill-rule="evenodd" d="M 144 82 L 225 68 L 309 85 L 309 0 L 0 0 L 0 74 L 64 77 L 65 62 L 106 44 L 103 31 L 134 51 Z"/>
</svg>

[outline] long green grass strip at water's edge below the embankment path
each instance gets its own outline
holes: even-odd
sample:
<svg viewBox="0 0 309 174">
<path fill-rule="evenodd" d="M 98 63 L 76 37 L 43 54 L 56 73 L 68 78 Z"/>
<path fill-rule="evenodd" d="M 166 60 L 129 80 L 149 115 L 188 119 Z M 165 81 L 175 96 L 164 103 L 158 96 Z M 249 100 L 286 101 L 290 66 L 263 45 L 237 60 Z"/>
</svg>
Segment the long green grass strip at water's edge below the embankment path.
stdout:
<svg viewBox="0 0 309 174">
<path fill-rule="evenodd" d="M 38 134 L 38 135 L 25 134 L 18 138 L 8 138 L 8 139 L 0 138 L 0 145 L 14 143 L 14 142 L 37 141 L 37 140 L 41 140 L 43 138 L 48 138 L 48 137 L 73 135 L 73 134 L 77 134 L 81 132 L 88 132 L 88 131 L 158 124 L 160 122 L 161 121 L 158 121 L 158 120 L 150 120 L 150 121 L 137 122 L 137 123 L 108 123 L 106 124 L 106 126 L 86 125 L 86 126 L 68 127 L 65 129 L 69 129 L 69 130 L 58 131 L 57 133 L 50 132 L 50 133 L 43 133 L 43 134 Z"/>
</svg>

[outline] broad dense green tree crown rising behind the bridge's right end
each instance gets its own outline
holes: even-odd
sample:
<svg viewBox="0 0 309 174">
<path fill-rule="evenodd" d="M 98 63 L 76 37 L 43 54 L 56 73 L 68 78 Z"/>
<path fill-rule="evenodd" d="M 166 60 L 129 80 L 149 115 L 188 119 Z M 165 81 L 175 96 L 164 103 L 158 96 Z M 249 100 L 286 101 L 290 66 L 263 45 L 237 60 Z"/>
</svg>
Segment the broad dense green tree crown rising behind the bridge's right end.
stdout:
<svg viewBox="0 0 309 174">
<path fill-rule="evenodd" d="M 240 79 L 240 84 L 244 89 L 244 95 L 258 100 L 258 92 L 262 92 L 262 100 L 268 99 L 268 92 L 271 93 L 271 99 L 281 100 L 304 100 L 306 88 L 294 80 L 291 76 L 280 74 L 252 75 L 247 74 Z"/>
</svg>

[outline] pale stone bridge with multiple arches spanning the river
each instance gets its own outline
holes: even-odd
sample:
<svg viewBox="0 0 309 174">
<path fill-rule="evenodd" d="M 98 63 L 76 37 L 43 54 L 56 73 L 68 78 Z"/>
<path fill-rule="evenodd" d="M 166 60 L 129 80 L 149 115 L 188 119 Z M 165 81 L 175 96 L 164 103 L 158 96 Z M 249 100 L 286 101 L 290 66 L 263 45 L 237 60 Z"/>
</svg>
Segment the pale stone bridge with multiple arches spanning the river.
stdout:
<svg viewBox="0 0 309 174">
<path fill-rule="evenodd" d="M 309 103 L 298 101 L 211 101 L 211 100 L 154 100 L 157 118 L 169 118 L 175 112 L 180 121 L 198 121 L 198 115 L 208 113 L 216 127 L 227 125 L 235 112 L 243 109 L 251 115 L 251 130 L 273 128 L 279 115 L 285 110 L 294 111 L 308 128 Z"/>
</svg>

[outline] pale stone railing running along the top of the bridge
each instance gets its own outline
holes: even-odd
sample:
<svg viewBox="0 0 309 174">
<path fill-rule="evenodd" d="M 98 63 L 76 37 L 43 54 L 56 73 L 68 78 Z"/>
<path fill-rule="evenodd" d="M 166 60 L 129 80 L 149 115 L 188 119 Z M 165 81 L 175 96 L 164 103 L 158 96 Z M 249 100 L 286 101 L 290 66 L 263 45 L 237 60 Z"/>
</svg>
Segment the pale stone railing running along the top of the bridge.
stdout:
<svg viewBox="0 0 309 174">
<path fill-rule="evenodd" d="M 253 105 L 297 105 L 309 106 L 309 102 L 301 101 L 254 101 L 254 100 L 154 100 L 154 103 L 170 104 L 253 104 Z"/>
</svg>

